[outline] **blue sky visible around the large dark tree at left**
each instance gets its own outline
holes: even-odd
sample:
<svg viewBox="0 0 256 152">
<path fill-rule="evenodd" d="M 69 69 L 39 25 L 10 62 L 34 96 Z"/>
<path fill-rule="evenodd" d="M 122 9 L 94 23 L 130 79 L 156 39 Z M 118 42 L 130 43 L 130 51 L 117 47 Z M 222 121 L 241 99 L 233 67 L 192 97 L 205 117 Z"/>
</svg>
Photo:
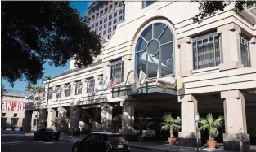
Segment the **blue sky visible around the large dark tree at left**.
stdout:
<svg viewBox="0 0 256 152">
<path fill-rule="evenodd" d="M 88 1 L 71 1 L 71 6 L 78 9 L 80 11 L 80 16 L 83 18 L 85 15 L 85 11 L 88 9 Z M 50 66 L 48 63 L 44 64 L 44 76 L 51 76 L 55 77 L 60 75 L 62 72 L 65 72 L 70 68 L 70 62 L 68 62 L 65 67 L 54 67 Z M 15 85 L 13 88 L 10 86 L 10 84 L 7 82 L 7 80 L 1 79 L 1 84 L 5 85 L 5 89 L 12 89 L 12 90 L 20 90 L 25 91 L 25 87 L 28 85 L 28 82 L 16 80 Z M 42 84 L 42 80 L 38 80 L 38 83 L 36 86 L 44 86 Z"/>
</svg>

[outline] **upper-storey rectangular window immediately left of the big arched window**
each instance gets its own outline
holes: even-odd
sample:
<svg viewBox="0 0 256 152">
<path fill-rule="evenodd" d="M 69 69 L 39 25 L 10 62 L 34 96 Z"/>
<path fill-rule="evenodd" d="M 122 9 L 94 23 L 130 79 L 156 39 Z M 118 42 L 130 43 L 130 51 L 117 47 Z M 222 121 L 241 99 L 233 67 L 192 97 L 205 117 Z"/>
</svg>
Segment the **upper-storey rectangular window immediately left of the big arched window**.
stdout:
<svg viewBox="0 0 256 152">
<path fill-rule="evenodd" d="M 119 83 L 123 82 L 124 80 L 124 62 L 122 59 L 113 61 L 111 63 L 111 76 L 114 75 Z"/>
</svg>

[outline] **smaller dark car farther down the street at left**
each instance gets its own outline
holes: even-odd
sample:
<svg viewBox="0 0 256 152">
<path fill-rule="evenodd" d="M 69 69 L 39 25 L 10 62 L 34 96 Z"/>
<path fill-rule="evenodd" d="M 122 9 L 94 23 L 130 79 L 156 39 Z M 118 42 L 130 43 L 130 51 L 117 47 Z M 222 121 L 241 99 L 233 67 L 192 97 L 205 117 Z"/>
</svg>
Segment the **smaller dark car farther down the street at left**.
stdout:
<svg viewBox="0 0 256 152">
<path fill-rule="evenodd" d="M 52 140 L 58 141 L 60 138 L 60 132 L 53 130 L 52 128 L 41 128 L 38 132 L 34 132 L 33 139 Z"/>
</svg>

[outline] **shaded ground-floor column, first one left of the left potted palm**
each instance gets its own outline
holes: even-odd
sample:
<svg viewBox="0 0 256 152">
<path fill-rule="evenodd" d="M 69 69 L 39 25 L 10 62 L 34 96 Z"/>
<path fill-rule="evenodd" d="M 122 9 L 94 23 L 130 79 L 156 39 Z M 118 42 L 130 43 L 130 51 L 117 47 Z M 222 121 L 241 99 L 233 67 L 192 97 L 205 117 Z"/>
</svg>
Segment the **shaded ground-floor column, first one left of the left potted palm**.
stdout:
<svg viewBox="0 0 256 152">
<path fill-rule="evenodd" d="M 123 102 L 122 132 L 126 136 L 135 136 L 134 130 L 134 102 L 125 100 Z"/>
</svg>

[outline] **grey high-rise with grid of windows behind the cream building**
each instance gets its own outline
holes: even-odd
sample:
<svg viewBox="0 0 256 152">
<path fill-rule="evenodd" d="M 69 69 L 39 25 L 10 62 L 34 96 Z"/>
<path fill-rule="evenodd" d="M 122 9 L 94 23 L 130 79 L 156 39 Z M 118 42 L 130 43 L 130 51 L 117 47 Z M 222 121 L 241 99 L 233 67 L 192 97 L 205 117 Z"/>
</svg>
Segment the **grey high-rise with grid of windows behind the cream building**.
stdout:
<svg viewBox="0 0 256 152">
<path fill-rule="evenodd" d="M 92 31 L 110 39 L 117 25 L 124 21 L 123 1 L 92 1 L 86 12 Z"/>
</svg>

